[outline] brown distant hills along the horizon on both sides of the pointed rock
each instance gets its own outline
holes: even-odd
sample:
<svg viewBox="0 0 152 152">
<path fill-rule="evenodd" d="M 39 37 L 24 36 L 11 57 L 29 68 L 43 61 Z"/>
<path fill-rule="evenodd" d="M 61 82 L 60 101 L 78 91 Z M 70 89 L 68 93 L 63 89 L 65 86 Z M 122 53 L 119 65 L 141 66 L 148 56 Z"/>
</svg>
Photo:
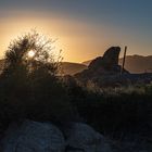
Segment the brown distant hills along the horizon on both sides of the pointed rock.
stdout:
<svg viewBox="0 0 152 152">
<path fill-rule="evenodd" d="M 64 75 L 75 75 L 80 73 L 84 69 L 88 68 L 92 60 L 85 61 L 83 63 L 73 63 L 73 62 L 62 62 L 61 72 Z M 122 65 L 123 59 L 119 59 L 119 65 Z M 2 68 L 3 60 L 0 60 L 0 71 Z M 152 73 L 152 55 L 142 56 L 142 55 L 127 55 L 125 68 L 130 73 Z"/>
</svg>

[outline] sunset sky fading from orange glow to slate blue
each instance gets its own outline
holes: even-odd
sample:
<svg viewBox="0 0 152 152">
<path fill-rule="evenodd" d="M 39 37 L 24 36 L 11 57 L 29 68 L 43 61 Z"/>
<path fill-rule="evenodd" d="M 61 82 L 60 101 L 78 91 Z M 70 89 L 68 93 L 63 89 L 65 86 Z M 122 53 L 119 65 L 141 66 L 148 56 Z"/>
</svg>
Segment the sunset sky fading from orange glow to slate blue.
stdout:
<svg viewBox="0 0 152 152">
<path fill-rule="evenodd" d="M 55 41 L 64 61 L 84 62 L 112 46 L 152 55 L 152 0 L 0 0 L 0 58 L 30 29 Z"/>
</svg>

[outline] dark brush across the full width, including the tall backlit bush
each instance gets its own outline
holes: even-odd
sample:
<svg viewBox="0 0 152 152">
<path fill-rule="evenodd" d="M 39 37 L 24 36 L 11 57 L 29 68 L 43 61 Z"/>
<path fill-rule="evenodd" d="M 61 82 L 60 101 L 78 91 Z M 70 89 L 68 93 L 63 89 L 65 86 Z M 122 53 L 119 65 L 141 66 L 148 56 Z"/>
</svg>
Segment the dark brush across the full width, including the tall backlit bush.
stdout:
<svg viewBox="0 0 152 152">
<path fill-rule="evenodd" d="M 74 77 L 58 75 L 60 58 L 54 61 L 51 45 L 33 31 L 9 46 L 0 75 L 1 132 L 25 118 L 59 125 L 78 121 L 113 138 L 150 139 L 151 85 L 81 86 Z"/>
</svg>

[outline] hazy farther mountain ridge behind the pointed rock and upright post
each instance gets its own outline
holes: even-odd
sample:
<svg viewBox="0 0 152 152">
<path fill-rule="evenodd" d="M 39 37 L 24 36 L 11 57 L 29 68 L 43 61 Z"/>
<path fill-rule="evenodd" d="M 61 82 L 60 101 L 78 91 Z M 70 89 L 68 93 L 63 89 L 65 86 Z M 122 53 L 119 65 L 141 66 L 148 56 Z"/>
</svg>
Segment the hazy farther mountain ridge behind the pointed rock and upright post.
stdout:
<svg viewBox="0 0 152 152">
<path fill-rule="evenodd" d="M 85 61 L 83 64 L 89 65 L 92 60 Z M 123 59 L 119 59 L 119 65 L 122 65 Z M 152 55 L 127 55 L 125 68 L 130 73 L 151 73 L 152 72 Z"/>
</svg>

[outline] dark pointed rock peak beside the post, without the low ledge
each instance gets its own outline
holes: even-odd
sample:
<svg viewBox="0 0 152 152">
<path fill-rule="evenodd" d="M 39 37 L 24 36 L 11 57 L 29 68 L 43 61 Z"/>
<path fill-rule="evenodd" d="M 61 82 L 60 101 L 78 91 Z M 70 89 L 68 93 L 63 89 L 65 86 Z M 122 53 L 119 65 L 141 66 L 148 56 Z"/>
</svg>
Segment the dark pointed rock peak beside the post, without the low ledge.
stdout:
<svg viewBox="0 0 152 152">
<path fill-rule="evenodd" d="M 103 56 L 99 56 L 94 59 L 88 66 L 88 69 L 85 69 L 81 73 L 76 74 L 77 78 L 98 78 L 111 75 L 119 75 L 122 67 L 118 65 L 118 56 L 119 56 L 121 48 L 119 47 L 111 47 L 105 51 Z M 128 72 L 124 69 L 124 73 Z"/>
</svg>

